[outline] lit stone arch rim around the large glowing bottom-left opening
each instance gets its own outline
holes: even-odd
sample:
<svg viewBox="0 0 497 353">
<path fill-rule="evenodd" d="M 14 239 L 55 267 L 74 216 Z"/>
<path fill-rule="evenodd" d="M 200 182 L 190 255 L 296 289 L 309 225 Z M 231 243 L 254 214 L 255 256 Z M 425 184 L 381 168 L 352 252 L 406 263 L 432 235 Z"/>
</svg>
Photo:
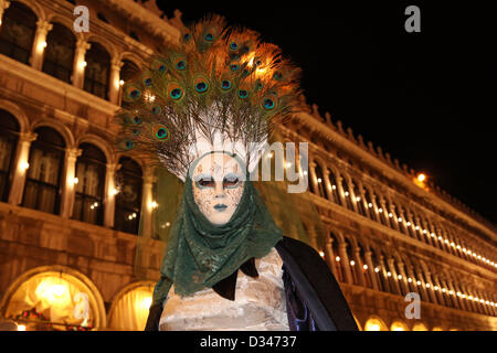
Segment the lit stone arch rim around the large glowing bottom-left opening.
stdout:
<svg viewBox="0 0 497 353">
<path fill-rule="evenodd" d="M 89 293 L 89 303 L 95 308 L 95 328 L 105 328 L 107 325 L 107 317 L 105 313 L 105 306 L 104 306 L 104 299 L 102 297 L 101 291 L 98 288 L 94 285 L 94 282 L 86 277 L 81 271 L 73 269 L 71 267 L 62 266 L 62 265 L 52 265 L 52 266 L 40 266 L 32 268 L 21 276 L 19 276 L 6 290 L 3 297 L 0 301 L 0 315 L 6 315 L 8 304 L 12 298 L 12 296 L 17 292 L 17 290 L 21 287 L 22 284 L 28 281 L 29 279 L 33 278 L 36 275 L 43 275 L 43 274 L 50 274 L 50 272 L 56 272 L 56 274 L 64 274 L 70 276 L 72 279 L 75 279 L 76 281 L 81 282 L 83 287 L 86 287 L 88 289 Z"/>
</svg>

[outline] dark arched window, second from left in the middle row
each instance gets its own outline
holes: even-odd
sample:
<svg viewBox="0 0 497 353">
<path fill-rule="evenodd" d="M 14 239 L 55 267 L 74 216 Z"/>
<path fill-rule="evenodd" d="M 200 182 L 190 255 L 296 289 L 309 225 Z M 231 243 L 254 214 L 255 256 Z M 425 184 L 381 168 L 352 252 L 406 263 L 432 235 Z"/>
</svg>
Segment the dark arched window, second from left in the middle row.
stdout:
<svg viewBox="0 0 497 353">
<path fill-rule="evenodd" d="M 40 127 L 34 132 L 38 138 L 31 143 L 22 205 L 59 214 L 65 142 L 49 127 Z"/>
</svg>

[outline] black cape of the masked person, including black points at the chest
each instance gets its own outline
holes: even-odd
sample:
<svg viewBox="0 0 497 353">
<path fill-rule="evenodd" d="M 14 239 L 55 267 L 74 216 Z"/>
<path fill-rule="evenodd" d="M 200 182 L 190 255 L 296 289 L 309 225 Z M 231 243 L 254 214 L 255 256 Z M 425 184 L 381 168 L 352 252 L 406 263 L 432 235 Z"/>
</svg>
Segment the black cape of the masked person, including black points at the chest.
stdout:
<svg viewBox="0 0 497 353">
<path fill-rule="evenodd" d="M 356 320 L 328 265 L 310 246 L 283 237 L 275 246 L 283 260 L 288 325 L 292 331 L 358 331 Z M 240 269 L 257 276 L 253 259 Z M 237 270 L 213 287 L 234 300 Z M 145 331 L 158 331 L 162 304 L 150 307 Z"/>
</svg>

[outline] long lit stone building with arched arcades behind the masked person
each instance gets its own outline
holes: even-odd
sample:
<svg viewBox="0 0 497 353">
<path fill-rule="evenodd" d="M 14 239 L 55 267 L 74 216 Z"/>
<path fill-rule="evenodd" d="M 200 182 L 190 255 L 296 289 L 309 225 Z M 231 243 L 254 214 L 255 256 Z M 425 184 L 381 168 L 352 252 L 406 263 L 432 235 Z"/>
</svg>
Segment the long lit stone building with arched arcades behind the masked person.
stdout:
<svg viewBox="0 0 497 353">
<path fill-rule="evenodd" d="M 161 205 L 154 170 L 114 149 L 113 117 L 123 82 L 179 38 L 181 14 L 160 14 L 131 0 L 0 0 L 1 319 L 142 329 Z M 296 212 L 362 330 L 497 330 L 493 224 L 316 106 L 278 135 L 309 143 Z"/>
</svg>

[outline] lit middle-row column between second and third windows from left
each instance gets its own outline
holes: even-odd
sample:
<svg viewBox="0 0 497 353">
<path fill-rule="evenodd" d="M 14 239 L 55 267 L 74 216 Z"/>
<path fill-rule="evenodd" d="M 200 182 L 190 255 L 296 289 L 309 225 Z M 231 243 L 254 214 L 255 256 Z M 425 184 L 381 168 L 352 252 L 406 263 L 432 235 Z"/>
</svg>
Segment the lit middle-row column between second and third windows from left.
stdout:
<svg viewBox="0 0 497 353">
<path fill-rule="evenodd" d="M 71 216 L 73 215 L 74 197 L 76 191 L 76 188 L 74 186 L 74 178 L 76 175 L 76 161 L 81 153 L 82 150 L 78 148 L 67 148 L 65 150 L 65 175 L 63 175 L 62 178 L 62 180 L 64 181 L 64 186 L 61 197 L 61 216 L 64 218 L 71 218 Z"/>
</svg>

